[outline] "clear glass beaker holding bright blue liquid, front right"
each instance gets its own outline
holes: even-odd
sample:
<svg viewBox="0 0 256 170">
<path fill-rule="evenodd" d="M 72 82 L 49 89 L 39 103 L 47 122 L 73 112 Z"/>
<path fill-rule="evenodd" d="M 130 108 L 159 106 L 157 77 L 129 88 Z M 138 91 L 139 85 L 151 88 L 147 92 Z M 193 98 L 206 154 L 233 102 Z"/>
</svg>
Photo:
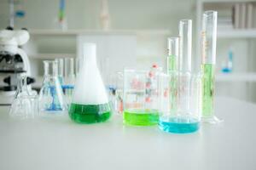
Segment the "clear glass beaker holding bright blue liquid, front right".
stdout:
<svg viewBox="0 0 256 170">
<path fill-rule="evenodd" d="M 161 130 L 168 133 L 193 133 L 197 131 L 200 127 L 201 121 L 201 75 L 191 74 L 191 76 L 186 77 L 188 80 L 183 84 L 177 84 L 178 92 L 176 98 L 178 101 L 182 101 L 178 98 L 187 98 L 184 101 L 189 102 L 189 107 L 183 107 L 183 104 L 178 103 L 177 109 L 172 110 L 172 105 L 170 105 L 170 99 L 173 99 L 172 91 L 173 80 L 177 80 L 183 77 L 186 73 L 177 72 L 169 75 L 160 75 L 160 122 L 159 127 Z M 179 82 L 179 81 L 178 81 Z M 189 84 L 189 86 L 188 86 Z M 184 86 L 185 85 L 185 86 Z M 183 90 L 188 90 L 189 93 L 183 93 Z M 181 94 L 189 94 L 189 96 L 181 96 Z M 172 103 L 172 102 L 171 102 Z"/>
</svg>

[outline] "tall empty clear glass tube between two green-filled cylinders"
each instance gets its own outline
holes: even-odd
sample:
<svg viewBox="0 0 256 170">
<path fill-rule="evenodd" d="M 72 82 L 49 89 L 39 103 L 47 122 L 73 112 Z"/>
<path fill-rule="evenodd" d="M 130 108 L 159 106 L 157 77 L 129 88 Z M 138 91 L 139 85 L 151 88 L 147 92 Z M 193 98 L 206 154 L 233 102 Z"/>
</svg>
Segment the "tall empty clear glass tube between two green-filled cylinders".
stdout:
<svg viewBox="0 0 256 170">
<path fill-rule="evenodd" d="M 177 105 L 182 111 L 189 111 L 192 20 L 179 21 L 179 38 Z"/>
</svg>

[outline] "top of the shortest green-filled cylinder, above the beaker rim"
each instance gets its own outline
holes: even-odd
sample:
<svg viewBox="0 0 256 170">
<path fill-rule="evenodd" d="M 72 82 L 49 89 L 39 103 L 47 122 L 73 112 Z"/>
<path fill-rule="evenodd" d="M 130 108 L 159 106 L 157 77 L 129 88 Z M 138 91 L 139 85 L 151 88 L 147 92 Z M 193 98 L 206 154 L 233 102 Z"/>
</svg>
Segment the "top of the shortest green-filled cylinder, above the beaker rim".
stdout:
<svg viewBox="0 0 256 170">
<path fill-rule="evenodd" d="M 178 37 L 168 38 L 167 73 L 177 71 L 178 65 Z"/>
</svg>

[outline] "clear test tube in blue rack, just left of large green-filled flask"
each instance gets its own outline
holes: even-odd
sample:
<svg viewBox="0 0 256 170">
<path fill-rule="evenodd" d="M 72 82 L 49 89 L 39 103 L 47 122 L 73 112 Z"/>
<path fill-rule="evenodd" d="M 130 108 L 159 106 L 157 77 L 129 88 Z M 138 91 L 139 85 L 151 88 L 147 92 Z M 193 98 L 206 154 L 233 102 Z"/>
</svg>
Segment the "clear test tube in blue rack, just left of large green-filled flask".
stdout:
<svg viewBox="0 0 256 170">
<path fill-rule="evenodd" d="M 75 83 L 75 73 L 74 73 L 74 59 L 65 59 L 65 76 L 64 83 L 62 84 L 62 89 L 66 98 L 67 106 L 71 104 L 73 88 Z"/>
</svg>

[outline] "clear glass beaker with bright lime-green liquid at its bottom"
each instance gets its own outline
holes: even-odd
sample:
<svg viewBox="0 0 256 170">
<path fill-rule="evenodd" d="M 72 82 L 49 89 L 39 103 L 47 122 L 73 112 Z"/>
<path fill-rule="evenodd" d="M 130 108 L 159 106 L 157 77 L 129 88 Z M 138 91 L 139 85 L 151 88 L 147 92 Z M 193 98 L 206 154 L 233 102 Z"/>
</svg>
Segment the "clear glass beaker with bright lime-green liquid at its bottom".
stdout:
<svg viewBox="0 0 256 170">
<path fill-rule="evenodd" d="M 158 72 L 124 71 L 123 121 L 128 125 L 155 125 L 159 120 Z"/>
</svg>

